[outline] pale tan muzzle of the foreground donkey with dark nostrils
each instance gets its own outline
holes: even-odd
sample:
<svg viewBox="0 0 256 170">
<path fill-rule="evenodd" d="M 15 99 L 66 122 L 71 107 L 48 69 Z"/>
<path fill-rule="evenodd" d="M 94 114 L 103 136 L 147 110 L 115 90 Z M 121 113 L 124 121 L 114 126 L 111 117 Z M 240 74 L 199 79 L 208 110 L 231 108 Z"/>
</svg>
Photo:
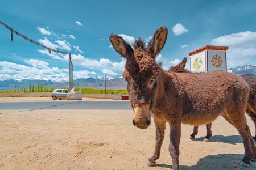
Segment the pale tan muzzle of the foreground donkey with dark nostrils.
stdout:
<svg viewBox="0 0 256 170">
<path fill-rule="evenodd" d="M 151 111 L 149 105 L 134 107 L 133 125 L 140 129 L 147 129 L 151 124 Z"/>
</svg>

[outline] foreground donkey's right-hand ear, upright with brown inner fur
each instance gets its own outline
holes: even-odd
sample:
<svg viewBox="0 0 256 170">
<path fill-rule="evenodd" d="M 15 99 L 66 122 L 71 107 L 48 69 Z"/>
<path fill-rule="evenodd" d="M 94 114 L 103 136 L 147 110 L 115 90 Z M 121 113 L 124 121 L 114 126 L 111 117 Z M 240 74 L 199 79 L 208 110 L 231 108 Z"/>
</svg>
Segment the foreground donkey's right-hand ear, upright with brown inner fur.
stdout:
<svg viewBox="0 0 256 170">
<path fill-rule="evenodd" d="M 164 44 L 166 44 L 168 29 L 166 27 L 160 27 L 156 30 L 154 37 L 148 43 L 148 49 L 151 56 L 155 58 L 156 54 L 162 50 Z"/>
</svg>

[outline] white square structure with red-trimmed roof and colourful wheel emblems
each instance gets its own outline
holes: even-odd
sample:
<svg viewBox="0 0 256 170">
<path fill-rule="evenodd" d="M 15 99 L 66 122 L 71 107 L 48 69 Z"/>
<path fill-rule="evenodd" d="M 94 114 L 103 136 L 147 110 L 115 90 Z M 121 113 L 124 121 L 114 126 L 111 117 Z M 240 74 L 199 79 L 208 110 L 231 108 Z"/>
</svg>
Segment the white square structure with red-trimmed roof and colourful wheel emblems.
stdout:
<svg viewBox="0 0 256 170">
<path fill-rule="evenodd" d="M 190 71 L 226 71 L 226 50 L 228 50 L 228 48 L 228 46 L 205 45 L 199 49 L 189 52 Z"/>
</svg>

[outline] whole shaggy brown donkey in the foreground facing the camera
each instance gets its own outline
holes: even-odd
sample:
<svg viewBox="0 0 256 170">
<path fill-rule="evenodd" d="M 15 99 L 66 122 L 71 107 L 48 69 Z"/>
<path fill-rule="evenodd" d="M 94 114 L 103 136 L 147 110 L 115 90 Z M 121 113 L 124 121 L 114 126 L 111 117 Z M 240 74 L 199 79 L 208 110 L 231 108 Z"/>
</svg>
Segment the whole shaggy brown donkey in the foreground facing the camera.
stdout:
<svg viewBox="0 0 256 170">
<path fill-rule="evenodd" d="M 159 159 L 166 122 L 170 124 L 172 168 L 177 170 L 181 123 L 204 125 L 221 114 L 240 133 L 245 148 L 241 165 L 249 167 L 250 161 L 256 160 L 256 146 L 245 118 L 248 84 L 241 76 L 226 71 L 184 74 L 163 70 L 155 57 L 166 42 L 167 32 L 166 27 L 160 27 L 147 46 L 138 39 L 133 48 L 121 36 L 111 34 L 109 37 L 114 49 L 126 58 L 123 77 L 127 80 L 134 110 L 134 126 L 147 129 L 151 116 L 154 118 L 155 152 L 148 159 L 148 165 L 154 165 Z"/>
</svg>

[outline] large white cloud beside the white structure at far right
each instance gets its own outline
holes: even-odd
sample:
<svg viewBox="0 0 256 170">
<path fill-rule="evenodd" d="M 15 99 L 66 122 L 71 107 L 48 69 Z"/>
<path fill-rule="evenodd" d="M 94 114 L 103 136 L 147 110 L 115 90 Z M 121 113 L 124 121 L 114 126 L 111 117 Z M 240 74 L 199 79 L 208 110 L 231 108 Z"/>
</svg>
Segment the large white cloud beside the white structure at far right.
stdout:
<svg viewBox="0 0 256 170">
<path fill-rule="evenodd" d="M 227 50 L 228 68 L 256 63 L 256 32 L 245 31 L 224 35 L 213 39 L 210 44 L 229 46 Z"/>
</svg>

